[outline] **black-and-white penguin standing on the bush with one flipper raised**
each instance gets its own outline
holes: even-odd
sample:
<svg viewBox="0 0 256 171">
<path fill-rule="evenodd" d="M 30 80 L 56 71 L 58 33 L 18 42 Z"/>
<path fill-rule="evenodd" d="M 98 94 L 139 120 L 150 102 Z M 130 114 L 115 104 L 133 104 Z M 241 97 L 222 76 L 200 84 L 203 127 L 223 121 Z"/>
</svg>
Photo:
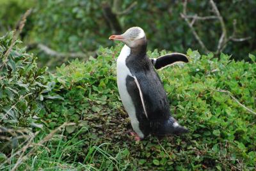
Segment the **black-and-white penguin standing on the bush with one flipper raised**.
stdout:
<svg viewBox="0 0 256 171">
<path fill-rule="evenodd" d="M 170 113 L 170 103 L 156 70 L 177 62 L 188 63 L 188 57 L 173 53 L 149 59 L 147 38 L 141 27 L 131 27 L 109 40 L 125 43 L 116 61 L 116 80 L 135 139 L 142 140 L 149 134 L 162 137 L 187 133 L 188 129 L 180 126 Z"/>
</svg>

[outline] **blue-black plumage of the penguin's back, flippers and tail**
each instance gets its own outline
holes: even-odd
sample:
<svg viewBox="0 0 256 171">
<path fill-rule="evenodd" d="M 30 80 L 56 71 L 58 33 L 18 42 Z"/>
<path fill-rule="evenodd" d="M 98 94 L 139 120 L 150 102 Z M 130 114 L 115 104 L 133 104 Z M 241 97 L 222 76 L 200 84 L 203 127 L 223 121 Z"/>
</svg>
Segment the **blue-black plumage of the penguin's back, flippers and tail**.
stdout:
<svg viewBox="0 0 256 171">
<path fill-rule="evenodd" d="M 145 137 L 148 133 L 156 135 L 171 135 L 173 133 L 186 133 L 188 130 L 180 126 L 170 113 L 170 104 L 164 91 L 163 84 L 154 70 L 152 61 L 138 48 L 132 49 L 125 63 L 131 71 L 132 77 L 126 78 L 126 86 L 136 108 L 136 117 L 140 123 L 140 130 Z M 183 54 L 170 54 L 157 58 L 157 68 L 175 63 L 188 62 Z M 136 84 L 136 80 L 138 84 Z M 141 98 L 141 94 L 143 98 Z M 143 100 L 143 101 L 142 101 Z M 143 105 L 147 112 L 143 110 Z"/>
</svg>

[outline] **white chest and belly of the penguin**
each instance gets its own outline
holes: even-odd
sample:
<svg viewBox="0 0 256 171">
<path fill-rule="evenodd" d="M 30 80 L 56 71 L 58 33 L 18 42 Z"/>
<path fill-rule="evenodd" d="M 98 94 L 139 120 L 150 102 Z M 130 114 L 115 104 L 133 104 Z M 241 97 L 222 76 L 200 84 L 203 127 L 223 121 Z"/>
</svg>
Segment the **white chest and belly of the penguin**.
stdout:
<svg viewBox="0 0 256 171">
<path fill-rule="evenodd" d="M 126 112 L 129 114 L 129 117 L 131 119 L 132 128 L 138 135 L 143 138 L 144 135 L 140 130 L 139 127 L 139 121 L 136 117 L 136 109 L 134 107 L 134 104 L 132 102 L 132 98 L 130 94 L 127 91 L 126 87 L 126 77 L 129 75 L 131 77 L 131 71 L 126 66 L 125 60 L 129 56 L 131 52 L 131 48 L 127 47 L 127 45 L 124 45 L 122 48 L 120 55 L 118 56 L 118 59 L 116 61 L 116 80 L 117 80 L 117 86 L 118 86 L 118 92 L 120 94 L 120 98 L 122 100 L 122 103 L 125 107 Z"/>
</svg>

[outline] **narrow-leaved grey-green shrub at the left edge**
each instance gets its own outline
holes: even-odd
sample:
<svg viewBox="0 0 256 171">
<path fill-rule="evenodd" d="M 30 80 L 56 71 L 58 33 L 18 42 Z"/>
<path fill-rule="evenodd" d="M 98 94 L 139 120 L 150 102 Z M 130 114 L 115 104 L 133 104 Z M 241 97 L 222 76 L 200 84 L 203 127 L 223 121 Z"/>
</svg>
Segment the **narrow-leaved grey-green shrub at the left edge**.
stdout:
<svg viewBox="0 0 256 171">
<path fill-rule="evenodd" d="M 38 114 L 45 111 L 42 100 L 51 91 L 47 68 L 38 68 L 36 57 L 19 48 L 21 41 L 13 37 L 10 32 L 0 38 L 0 151 L 8 155 L 33 130 L 43 128 Z"/>
</svg>

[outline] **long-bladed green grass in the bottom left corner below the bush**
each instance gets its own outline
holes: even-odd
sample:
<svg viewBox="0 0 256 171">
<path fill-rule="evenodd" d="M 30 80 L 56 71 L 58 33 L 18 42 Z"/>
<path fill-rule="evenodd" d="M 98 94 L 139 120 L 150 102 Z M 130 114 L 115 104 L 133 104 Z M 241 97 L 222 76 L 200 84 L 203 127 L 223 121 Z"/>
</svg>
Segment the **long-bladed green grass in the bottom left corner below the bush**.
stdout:
<svg viewBox="0 0 256 171">
<path fill-rule="evenodd" d="M 87 130 L 87 128 L 81 128 L 81 130 Z M 49 140 L 46 144 L 42 145 L 40 142 L 49 135 L 49 133 L 42 132 L 36 135 L 34 142 L 29 144 L 30 149 L 28 149 L 27 155 L 24 158 L 21 158 L 20 161 L 17 161 L 17 156 L 15 153 L 20 153 L 21 151 L 12 151 L 10 158 L 8 158 L 8 163 L 0 165 L 1 170 L 115 170 L 120 168 L 121 165 L 124 165 L 122 161 L 118 160 L 118 155 L 121 151 L 112 156 L 109 154 L 108 147 L 110 143 L 103 143 L 100 145 L 92 144 L 88 147 L 88 152 L 85 154 L 84 159 L 79 159 L 80 162 L 77 162 L 78 156 L 81 156 L 79 153 L 83 153 L 83 149 L 80 151 L 74 152 L 73 149 L 77 147 L 78 144 L 83 144 L 84 140 L 79 140 L 76 143 L 72 143 L 73 138 L 76 138 L 81 131 L 77 131 L 76 135 L 67 142 L 63 141 L 65 136 L 63 132 L 65 129 L 61 130 L 61 134 L 58 134 Z M 40 145 L 39 145 L 39 144 Z M 33 153 L 31 152 L 35 148 Z M 102 156 L 102 163 L 100 165 L 95 163 L 97 158 Z M 7 161 L 7 160 L 6 160 Z M 17 165 L 17 162 L 18 165 Z M 122 166 L 125 168 L 125 165 Z"/>
</svg>

